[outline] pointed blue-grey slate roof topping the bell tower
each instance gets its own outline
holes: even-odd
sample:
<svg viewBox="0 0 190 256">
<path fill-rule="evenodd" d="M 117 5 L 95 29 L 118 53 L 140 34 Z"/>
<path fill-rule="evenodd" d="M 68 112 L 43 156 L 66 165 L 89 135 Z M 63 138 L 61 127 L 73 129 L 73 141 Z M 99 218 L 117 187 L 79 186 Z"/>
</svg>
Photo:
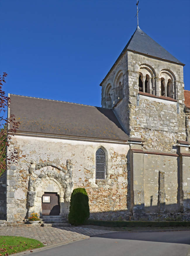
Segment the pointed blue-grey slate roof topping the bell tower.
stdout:
<svg viewBox="0 0 190 256">
<path fill-rule="evenodd" d="M 183 64 L 178 59 L 176 59 L 172 54 L 165 50 L 161 45 L 155 42 L 151 37 L 149 37 L 144 31 L 137 26 L 131 39 L 125 46 L 124 50 L 132 50 L 143 54 L 148 54 L 153 57 L 157 57 L 164 60 L 169 60 L 175 63 Z M 120 54 L 121 56 L 122 54 Z M 119 58 L 120 58 L 119 56 Z M 184 64 L 183 64 L 184 65 Z"/>
</svg>

